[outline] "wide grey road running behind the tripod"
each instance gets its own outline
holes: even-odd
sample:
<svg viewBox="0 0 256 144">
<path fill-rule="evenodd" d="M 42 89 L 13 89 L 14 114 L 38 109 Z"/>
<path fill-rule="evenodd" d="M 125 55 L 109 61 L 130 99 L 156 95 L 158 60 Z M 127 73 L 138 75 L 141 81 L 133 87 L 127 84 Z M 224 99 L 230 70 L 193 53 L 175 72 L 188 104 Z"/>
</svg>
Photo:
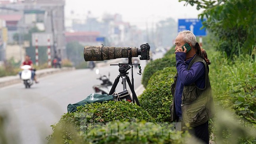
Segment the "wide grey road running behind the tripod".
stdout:
<svg viewBox="0 0 256 144">
<path fill-rule="evenodd" d="M 161 54 L 155 56 L 161 57 Z M 123 61 L 123 60 L 122 60 Z M 122 62 L 120 59 L 120 63 Z M 146 61 L 140 60 L 142 72 Z M 113 63 L 117 64 L 117 63 Z M 100 74 L 108 75 L 114 83 L 119 75 L 117 65 L 98 67 Z M 139 69 L 134 71 L 135 90 L 141 85 Z M 131 79 L 131 70 L 129 77 Z M 22 83 L 0 88 L 0 116 L 6 117 L 6 136 L 10 144 L 45 144 L 52 133 L 50 125 L 58 123 L 67 113 L 67 105 L 74 104 L 94 93 L 92 86 L 100 84 L 95 71 L 78 69 L 40 78 L 40 83 L 26 89 Z M 127 84 L 127 88 L 129 86 Z M 123 91 L 121 78 L 116 92 Z"/>
</svg>

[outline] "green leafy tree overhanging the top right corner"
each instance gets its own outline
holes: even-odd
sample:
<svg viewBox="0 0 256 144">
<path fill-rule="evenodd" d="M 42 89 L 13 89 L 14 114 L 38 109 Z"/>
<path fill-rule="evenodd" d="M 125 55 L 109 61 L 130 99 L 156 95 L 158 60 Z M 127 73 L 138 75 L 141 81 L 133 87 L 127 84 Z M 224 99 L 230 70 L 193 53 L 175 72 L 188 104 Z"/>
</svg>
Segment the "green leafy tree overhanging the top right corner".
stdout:
<svg viewBox="0 0 256 144">
<path fill-rule="evenodd" d="M 179 0 L 185 5 L 204 9 L 198 18 L 207 18 L 203 25 L 219 39 L 217 50 L 225 51 L 229 58 L 238 54 L 251 54 L 255 47 L 255 0 Z"/>
</svg>

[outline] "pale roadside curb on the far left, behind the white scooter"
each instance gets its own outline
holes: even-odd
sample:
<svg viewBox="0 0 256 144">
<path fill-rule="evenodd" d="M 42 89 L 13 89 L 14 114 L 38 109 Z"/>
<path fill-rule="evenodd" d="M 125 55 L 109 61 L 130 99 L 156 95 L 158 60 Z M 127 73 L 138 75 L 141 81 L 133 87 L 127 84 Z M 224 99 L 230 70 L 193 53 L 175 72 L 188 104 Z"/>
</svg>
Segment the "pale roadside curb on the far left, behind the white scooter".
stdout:
<svg viewBox="0 0 256 144">
<path fill-rule="evenodd" d="M 44 77 L 49 74 L 60 73 L 64 71 L 71 71 L 74 70 L 75 67 L 62 67 L 62 68 L 49 68 L 49 69 L 39 69 L 36 71 L 37 77 Z M 0 88 L 16 83 L 21 83 L 21 79 L 19 75 L 7 76 L 7 77 L 0 77 Z"/>
</svg>

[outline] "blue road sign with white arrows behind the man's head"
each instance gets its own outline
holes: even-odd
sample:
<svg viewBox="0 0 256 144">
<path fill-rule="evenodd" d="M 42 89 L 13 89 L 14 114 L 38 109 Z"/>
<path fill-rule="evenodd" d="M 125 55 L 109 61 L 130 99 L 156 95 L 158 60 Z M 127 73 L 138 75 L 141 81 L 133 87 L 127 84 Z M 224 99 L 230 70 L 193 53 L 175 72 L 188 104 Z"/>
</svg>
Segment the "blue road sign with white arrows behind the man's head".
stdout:
<svg viewBox="0 0 256 144">
<path fill-rule="evenodd" d="M 205 21 L 204 19 L 203 21 Z M 195 36 L 206 36 L 206 29 L 200 29 L 202 27 L 201 19 L 179 19 L 178 20 L 178 33 L 180 31 L 189 30 L 194 33 Z"/>
</svg>

